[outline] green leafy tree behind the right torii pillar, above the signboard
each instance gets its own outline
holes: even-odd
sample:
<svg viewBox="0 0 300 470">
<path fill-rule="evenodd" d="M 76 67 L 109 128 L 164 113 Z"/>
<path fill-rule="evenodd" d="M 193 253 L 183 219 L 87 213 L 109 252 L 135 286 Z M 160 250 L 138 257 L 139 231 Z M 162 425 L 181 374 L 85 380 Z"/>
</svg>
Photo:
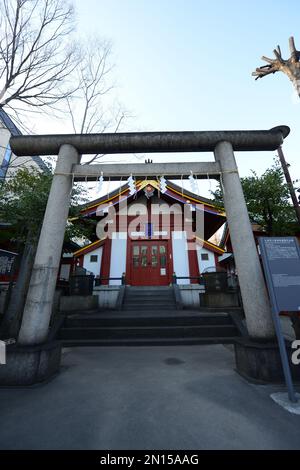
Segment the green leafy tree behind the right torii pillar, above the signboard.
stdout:
<svg viewBox="0 0 300 470">
<path fill-rule="evenodd" d="M 287 184 L 278 161 L 261 176 L 241 178 L 250 219 L 261 225 L 269 236 L 294 235 L 299 231 Z M 212 192 L 215 202 L 223 204 L 221 187 Z"/>
</svg>

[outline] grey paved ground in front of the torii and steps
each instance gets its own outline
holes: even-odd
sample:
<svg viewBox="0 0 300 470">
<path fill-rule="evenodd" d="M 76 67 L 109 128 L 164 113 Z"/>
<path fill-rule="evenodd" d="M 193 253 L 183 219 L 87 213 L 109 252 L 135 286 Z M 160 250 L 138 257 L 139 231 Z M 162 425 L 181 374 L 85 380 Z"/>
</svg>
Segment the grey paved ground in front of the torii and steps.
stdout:
<svg viewBox="0 0 300 470">
<path fill-rule="evenodd" d="M 0 390 L 1 449 L 300 449 L 300 416 L 223 346 L 78 348 L 60 375 Z"/>
</svg>

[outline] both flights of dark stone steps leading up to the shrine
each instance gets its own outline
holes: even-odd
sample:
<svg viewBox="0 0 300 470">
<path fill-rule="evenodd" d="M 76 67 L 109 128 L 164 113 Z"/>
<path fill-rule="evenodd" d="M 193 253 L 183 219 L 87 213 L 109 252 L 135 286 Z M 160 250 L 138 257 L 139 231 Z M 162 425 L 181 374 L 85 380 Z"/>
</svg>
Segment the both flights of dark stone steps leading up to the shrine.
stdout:
<svg viewBox="0 0 300 470">
<path fill-rule="evenodd" d="M 236 314 L 178 309 L 173 287 L 126 287 L 122 311 L 66 315 L 56 339 L 65 347 L 201 345 L 243 333 Z"/>
</svg>

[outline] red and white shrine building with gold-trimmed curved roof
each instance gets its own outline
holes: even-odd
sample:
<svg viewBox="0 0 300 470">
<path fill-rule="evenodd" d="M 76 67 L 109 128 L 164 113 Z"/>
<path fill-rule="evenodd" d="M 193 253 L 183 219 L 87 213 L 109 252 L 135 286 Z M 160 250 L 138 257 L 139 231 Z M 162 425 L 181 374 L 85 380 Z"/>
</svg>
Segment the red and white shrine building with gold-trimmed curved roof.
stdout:
<svg viewBox="0 0 300 470">
<path fill-rule="evenodd" d="M 126 183 L 88 203 L 80 223 L 95 224 L 95 236 L 73 255 L 73 268 L 93 273 L 101 284 L 167 286 L 193 284 L 206 270 L 219 266 L 224 249 L 211 241 L 225 223 L 213 201 L 166 181 Z M 68 278 L 67 260 L 60 278 Z"/>
</svg>

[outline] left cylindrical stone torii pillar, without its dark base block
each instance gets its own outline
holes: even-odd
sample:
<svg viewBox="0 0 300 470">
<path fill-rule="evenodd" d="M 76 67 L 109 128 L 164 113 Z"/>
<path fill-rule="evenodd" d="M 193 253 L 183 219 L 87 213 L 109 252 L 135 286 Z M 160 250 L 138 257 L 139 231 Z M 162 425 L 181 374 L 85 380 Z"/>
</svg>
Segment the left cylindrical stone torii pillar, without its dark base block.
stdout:
<svg viewBox="0 0 300 470">
<path fill-rule="evenodd" d="M 46 212 L 24 307 L 19 344 L 47 340 L 65 228 L 72 191 L 72 166 L 79 163 L 77 150 L 62 145 L 49 193 Z"/>
</svg>

